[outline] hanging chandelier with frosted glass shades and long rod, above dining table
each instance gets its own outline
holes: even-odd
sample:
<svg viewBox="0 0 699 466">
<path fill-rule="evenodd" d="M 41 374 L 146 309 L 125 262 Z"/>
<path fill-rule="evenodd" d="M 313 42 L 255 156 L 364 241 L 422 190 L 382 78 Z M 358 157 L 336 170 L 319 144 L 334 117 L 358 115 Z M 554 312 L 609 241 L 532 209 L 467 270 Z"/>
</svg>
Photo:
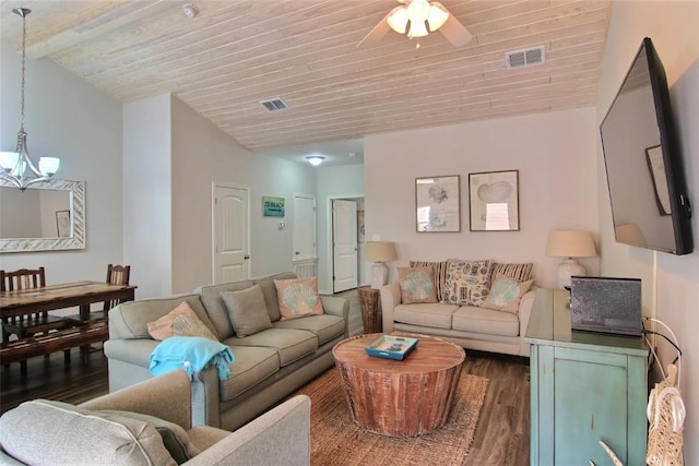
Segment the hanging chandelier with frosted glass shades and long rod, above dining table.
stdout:
<svg viewBox="0 0 699 466">
<path fill-rule="evenodd" d="M 29 151 L 26 146 L 26 132 L 24 131 L 24 70 L 26 61 L 26 15 L 32 10 L 15 8 L 12 12 L 22 16 L 22 120 L 17 132 L 16 151 L 0 152 L 0 178 L 24 191 L 34 183 L 49 180 L 58 171 L 60 159 L 57 157 L 40 157 L 37 169 L 29 158 Z"/>
</svg>

